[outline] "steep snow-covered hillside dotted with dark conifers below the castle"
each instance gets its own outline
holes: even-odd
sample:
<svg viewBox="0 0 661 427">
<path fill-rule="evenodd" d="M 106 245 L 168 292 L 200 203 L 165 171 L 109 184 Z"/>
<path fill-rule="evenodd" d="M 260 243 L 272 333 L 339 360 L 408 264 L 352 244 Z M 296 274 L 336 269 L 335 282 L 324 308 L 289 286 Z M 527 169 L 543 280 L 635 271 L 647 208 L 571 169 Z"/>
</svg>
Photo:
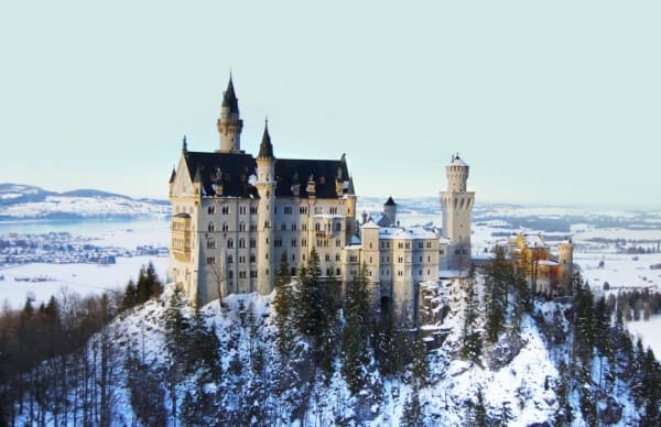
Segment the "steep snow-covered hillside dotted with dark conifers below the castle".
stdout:
<svg viewBox="0 0 661 427">
<path fill-rule="evenodd" d="M 328 348 L 333 358 L 324 368 L 323 357 L 322 364 L 315 359 L 314 338 L 305 333 L 292 337 L 288 352 L 279 350 L 277 292 L 230 295 L 196 314 L 166 286 L 160 297 L 118 315 L 78 352 L 37 369 L 32 377 L 46 388 L 33 394 L 26 387 L 22 409 L 14 401 L 15 421 L 582 426 L 658 420 L 649 406 L 657 398 L 658 408 L 658 396 L 646 394 L 643 370 L 658 374 L 659 363 L 649 362 L 649 352 L 635 348 L 617 322 L 597 331 L 599 302 L 583 291 L 574 304 L 537 300 L 520 321 L 510 307 L 496 342 L 487 343 L 488 319 L 470 314 L 477 295 L 467 283 L 426 284 L 435 297 L 420 329 L 447 332 L 440 346 L 420 351 L 404 332 L 394 340 L 404 341 L 392 342 L 383 354 L 372 336 L 356 371 L 358 388 L 346 376 L 348 306 L 336 314 L 343 338 Z M 488 287 L 480 278 L 474 285 L 478 299 L 485 298 Z M 586 318 L 593 325 L 587 329 Z M 473 332 L 481 338 L 472 347 L 466 337 Z M 398 368 L 405 348 L 413 349 L 412 359 Z M 64 387 L 57 385 L 62 377 L 69 379 Z M 65 396 L 67 406 L 57 403 Z"/>
</svg>

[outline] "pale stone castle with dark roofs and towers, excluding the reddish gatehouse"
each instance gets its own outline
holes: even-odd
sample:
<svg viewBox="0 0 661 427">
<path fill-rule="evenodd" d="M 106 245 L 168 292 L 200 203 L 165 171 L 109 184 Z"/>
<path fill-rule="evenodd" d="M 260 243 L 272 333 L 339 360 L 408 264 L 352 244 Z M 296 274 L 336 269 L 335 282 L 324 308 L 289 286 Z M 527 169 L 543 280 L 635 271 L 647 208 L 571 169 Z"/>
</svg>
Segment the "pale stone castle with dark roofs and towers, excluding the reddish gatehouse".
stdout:
<svg viewBox="0 0 661 427">
<path fill-rule="evenodd" d="M 257 157 L 241 150 L 243 121 L 231 77 L 224 94 L 220 149 L 192 152 L 184 138 L 170 179 L 170 277 L 199 304 L 232 293 L 273 289 L 286 253 L 296 275 L 314 249 L 324 277 L 347 284 L 367 266 L 375 309 L 391 307 L 413 320 L 419 286 L 441 271 L 470 264 L 468 165 L 446 166 L 441 193 L 443 230 L 401 228 L 389 198 L 375 221 L 356 220 L 356 194 L 345 155 L 339 160 L 278 158 L 268 123 Z"/>
</svg>

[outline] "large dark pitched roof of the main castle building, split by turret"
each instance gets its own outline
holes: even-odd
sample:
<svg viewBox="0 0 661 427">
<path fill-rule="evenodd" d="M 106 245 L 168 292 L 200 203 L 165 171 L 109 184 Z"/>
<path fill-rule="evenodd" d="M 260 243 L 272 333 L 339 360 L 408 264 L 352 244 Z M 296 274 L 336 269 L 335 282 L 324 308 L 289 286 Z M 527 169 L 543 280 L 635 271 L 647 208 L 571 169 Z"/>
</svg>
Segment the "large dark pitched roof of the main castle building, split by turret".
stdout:
<svg viewBox="0 0 661 427">
<path fill-rule="evenodd" d="M 223 196 L 259 198 L 257 188 L 251 184 L 251 175 L 257 175 L 257 162 L 250 154 L 243 153 L 204 153 L 185 152 L 191 179 L 202 183 L 203 195 L 214 195 L 215 185 L 223 184 Z M 300 185 L 299 197 L 307 198 L 306 184 L 315 182 L 316 198 L 337 198 L 335 182 L 338 173 L 349 176 L 346 162 L 340 160 L 301 160 L 278 158 L 275 161 L 275 196 L 293 197 L 292 186 Z M 300 177 L 300 179 L 297 179 Z M 344 185 L 344 191 L 350 193 L 350 186 Z"/>
</svg>

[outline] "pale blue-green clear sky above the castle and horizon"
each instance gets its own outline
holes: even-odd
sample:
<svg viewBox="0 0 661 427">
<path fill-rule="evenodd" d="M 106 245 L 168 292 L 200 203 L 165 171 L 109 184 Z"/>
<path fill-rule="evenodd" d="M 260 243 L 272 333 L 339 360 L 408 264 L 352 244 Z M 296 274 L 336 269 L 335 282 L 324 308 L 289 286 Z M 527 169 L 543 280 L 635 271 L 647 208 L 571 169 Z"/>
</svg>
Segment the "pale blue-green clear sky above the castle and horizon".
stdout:
<svg viewBox="0 0 661 427">
<path fill-rule="evenodd" d="M 167 197 L 219 145 L 339 158 L 358 195 L 661 207 L 659 1 L 0 4 L 0 182 Z"/>
</svg>

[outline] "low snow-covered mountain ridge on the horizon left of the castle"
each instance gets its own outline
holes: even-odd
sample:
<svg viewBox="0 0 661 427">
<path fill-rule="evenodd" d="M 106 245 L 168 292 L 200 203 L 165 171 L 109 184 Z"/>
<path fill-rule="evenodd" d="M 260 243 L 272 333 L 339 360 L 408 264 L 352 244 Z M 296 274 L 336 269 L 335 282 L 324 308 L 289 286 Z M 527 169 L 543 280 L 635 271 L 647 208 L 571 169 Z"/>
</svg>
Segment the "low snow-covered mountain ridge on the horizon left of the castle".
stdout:
<svg viewBox="0 0 661 427">
<path fill-rule="evenodd" d="M 170 202 L 98 189 L 56 193 L 23 184 L 0 184 L 0 221 L 128 219 L 170 215 Z"/>
</svg>

